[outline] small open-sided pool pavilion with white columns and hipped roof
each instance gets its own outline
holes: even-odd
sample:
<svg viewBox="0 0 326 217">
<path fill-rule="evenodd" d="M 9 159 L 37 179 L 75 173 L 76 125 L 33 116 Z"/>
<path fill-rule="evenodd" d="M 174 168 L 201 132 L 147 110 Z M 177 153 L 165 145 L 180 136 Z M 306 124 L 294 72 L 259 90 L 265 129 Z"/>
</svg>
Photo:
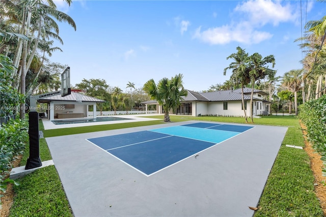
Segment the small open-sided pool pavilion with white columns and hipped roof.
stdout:
<svg viewBox="0 0 326 217">
<path fill-rule="evenodd" d="M 89 105 L 93 105 L 93 118 L 96 118 L 96 103 L 105 102 L 104 100 L 78 93 L 78 90 L 71 90 L 71 94 L 67 96 L 55 95 L 43 97 L 38 100 L 39 103 L 47 103 L 46 116 L 50 117 L 50 121 L 55 118 L 84 118 L 87 117 Z"/>
</svg>

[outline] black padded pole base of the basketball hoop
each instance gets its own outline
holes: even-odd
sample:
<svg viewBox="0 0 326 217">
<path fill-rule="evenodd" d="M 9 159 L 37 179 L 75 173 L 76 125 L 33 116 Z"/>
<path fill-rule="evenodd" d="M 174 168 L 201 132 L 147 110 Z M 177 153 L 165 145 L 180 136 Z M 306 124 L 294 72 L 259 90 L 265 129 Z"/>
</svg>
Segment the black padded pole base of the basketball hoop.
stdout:
<svg viewBox="0 0 326 217">
<path fill-rule="evenodd" d="M 39 113 L 29 113 L 30 157 L 27 159 L 25 170 L 42 166 L 39 144 Z"/>
</svg>

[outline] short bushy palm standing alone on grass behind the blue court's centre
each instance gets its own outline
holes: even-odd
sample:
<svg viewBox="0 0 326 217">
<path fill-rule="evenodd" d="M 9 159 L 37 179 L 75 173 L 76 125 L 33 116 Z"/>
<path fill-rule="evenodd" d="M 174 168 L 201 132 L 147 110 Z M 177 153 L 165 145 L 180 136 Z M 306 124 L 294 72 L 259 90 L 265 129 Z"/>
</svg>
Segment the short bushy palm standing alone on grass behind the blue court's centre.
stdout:
<svg viewBox="0 0 326 217">
<path fill-rule="evenodd" d="M 170 122 L 169 112 L 175 111 L 183 100 L 183 96 L 187 96 L 188 92 L 182 85 L 182 74 L 175 75 L 171 79 L 162 78 L 156 85 L 153 79 L 148 80 L 144 87 L 144 91 L 151 99 L 156 100 L 164 109 L 164 122 Z"/>
</svg>

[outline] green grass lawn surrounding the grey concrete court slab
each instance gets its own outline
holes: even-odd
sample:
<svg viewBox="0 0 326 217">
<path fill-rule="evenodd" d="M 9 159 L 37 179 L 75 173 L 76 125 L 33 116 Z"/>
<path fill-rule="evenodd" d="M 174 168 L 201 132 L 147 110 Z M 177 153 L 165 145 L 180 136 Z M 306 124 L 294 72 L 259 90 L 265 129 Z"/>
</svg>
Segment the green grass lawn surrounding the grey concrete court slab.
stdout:
<svg viewBox="0 0 326 217">
<path fill-rule="evenodd" d="M 160 120 L 43 130 L 43 132 L 45 137 L 55 137 L 57 135 L 164 124 L 162 115 L 150 116 L 149 118 Z M 171 116 L 172 122 L 188 120 L 246 124 L 244 118 Z M 289 127 L 266 182 L 255 216 L 323 216 L 314 194 L 314 177 L 309 167 L 308 155 L 304 150 L 285 147 L 287 144 L 304 146 L 298 119 L 294 116 L 264 116 L 255 118 L 254 122 L 254 124 Z M 40 124 L 40 129 L 42 127 L 43 125 Z M 28 151 L 26 154 L 28 155 Z M 40 140 L 40 156 L 42 160 L 51 158 L 44 139 Z M 26 162 L 25 158 L 21 165 Z M 49 180 L 46 177 L 51 178 Z M 33 216 L 72 216 L 55 167 L 39 169 L 18 181 L 21 185 L 15 186 L 16 197 L 11 216 L 24 216 L 26 213 Z M 32 203 L 28 202 L 30 198 L 33 198 Z M 26 212 L 22 214 L 24 210 Z"/>
</svg>

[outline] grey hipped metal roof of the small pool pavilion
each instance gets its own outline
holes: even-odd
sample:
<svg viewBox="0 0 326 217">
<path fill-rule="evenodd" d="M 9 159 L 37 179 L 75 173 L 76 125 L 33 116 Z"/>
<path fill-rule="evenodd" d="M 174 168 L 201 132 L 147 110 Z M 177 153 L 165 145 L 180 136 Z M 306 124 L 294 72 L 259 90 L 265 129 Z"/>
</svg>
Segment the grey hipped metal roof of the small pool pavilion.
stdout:
<svg viewBox="0 0 326 217">
<path fill-rule="evenodd" d="M 104 100 L 92 97 L 92 96 L 87 96 L 84 94 L 79 94 L 79 93 L 75 93 L 75 92 L 71 92 L 70 95 L 68 96 L 61 96 L 61 95 L 56 95 L 56 96 L 48 96 L 48 97 L 44 97 L 39 99 L 39 102 L 50 102 L 50 101 L 77 101 L 77 97 L 80 97 L 82 99 L 82 102 L 105 102 Z"/>
</svg>

